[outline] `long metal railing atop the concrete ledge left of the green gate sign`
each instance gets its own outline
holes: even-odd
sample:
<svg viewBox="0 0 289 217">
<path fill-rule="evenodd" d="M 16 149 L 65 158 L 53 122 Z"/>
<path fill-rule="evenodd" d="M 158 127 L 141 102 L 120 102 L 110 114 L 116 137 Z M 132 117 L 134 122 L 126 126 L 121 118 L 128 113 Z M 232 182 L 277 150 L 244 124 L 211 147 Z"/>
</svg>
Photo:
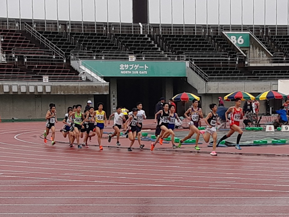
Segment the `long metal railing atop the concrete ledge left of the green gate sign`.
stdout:
<svg viewBox="0 0 289 217">
<path fill-rule="evenodd" d="M 48 79 L 48 80 L 47 80 Z M 45 82 L 44 82 L 45 80 Z M 83 75 L 29 75 L 26 73 L 17 74 L 0 74 L 0 81 L 2 82 L 100 82 L 95 78 L 91 80 L 87 79 L 87 76 Z"/>
</svg>

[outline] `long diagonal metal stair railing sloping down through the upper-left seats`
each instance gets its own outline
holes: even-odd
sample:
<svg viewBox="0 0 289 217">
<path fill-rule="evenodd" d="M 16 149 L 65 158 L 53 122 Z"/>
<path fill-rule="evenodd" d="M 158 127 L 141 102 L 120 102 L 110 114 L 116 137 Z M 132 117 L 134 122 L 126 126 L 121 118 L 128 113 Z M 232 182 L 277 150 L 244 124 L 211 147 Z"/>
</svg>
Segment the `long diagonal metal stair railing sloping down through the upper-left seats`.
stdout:
<svg viewBox="0 0 289 217">
<path fill-rule="evenodd" d="M 57 46 L 55 46 L 52 42 L 50 42 L 48 39 L 46 39 L 44 36 L 38 33 L 35 29 L 33 29 L 27 23 L 24 23 L 24 30 L 26 30 L 27 33 L 30 33 L 31 36 L 38 39 L 40 43 L 45 45 L 45 47 L 49 48 L 52 52 L 54 52 L 55 55 L 65 58 L 65 54 L 62 50 L 60 50 Z"/>
</svg>

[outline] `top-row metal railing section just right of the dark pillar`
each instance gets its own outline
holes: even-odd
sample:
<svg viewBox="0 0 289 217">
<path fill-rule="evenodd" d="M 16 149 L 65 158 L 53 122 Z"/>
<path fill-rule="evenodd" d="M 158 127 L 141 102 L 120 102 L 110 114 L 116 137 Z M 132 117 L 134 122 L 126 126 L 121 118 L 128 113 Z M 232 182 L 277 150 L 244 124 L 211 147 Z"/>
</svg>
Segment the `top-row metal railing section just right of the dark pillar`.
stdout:
<svg viewBox="0 0 289 217">
<path fill-rule="evenodd" d="M 198 25 L 159 25 L 160 35 L 203 35 L 203 26 Z"/>
</svg>

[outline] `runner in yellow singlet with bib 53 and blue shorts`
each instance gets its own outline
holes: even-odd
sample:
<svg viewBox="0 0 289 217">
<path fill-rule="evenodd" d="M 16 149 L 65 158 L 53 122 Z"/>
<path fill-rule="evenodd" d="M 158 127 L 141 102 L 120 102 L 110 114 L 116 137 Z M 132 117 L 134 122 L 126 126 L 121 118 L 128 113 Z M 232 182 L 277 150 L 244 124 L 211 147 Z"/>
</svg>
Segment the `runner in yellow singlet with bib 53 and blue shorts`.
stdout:
<svg viewBox="0 0 289 217">
<path fill-rule="evenodd" d="M 99 102 L 97 104 L 98 110 L 94 111 L 95 116 L 95 132 L 97 135 L 97 141 L 99 144 L 99 149 L 103 150 L 103 147 L 101 145 L 101 138 L 103 134 L 103 128 L 106 127 L 106 112 L 103 111 L 103 103 Z"/>
</svg>

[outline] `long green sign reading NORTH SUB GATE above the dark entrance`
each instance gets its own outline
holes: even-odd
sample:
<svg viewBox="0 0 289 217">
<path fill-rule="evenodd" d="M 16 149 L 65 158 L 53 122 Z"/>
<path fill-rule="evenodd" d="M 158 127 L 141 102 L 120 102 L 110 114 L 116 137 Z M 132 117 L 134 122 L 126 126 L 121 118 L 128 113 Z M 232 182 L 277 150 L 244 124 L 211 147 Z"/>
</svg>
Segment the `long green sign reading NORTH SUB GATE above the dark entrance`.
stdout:
<svg viewBox="0 0 289 217">
<path fill-rule="evenodd" d="M 106 77 L 186 77 L 186 62 L 82 60 Z"/>
</svg>

